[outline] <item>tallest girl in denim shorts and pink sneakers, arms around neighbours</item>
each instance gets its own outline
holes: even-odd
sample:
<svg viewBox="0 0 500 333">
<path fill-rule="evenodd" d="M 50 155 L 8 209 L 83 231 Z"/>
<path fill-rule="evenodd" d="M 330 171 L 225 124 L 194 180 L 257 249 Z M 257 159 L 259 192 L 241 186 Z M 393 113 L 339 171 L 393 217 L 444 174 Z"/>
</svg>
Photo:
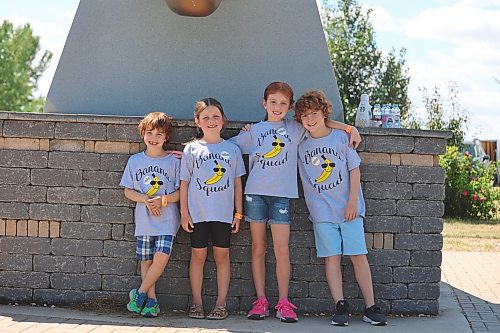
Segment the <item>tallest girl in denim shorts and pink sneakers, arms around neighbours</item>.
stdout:
<svg viewBox="0 0 500 333">
<path fill-rule="evenodd" d="M 249 154 L 249 174 L 245 187 L 245 220 L 252 237 L 252 275 L 257 300 L 248 313 L 250 319 L 269 316 L 265 296 L 266 225 L 269 224 L 276 257 L 279 300 L 276 317 L 282 322 L 298 321 L 297 307 L 288 299 L 290 280 L 290 198 L 298 198 L 297 147 L 306 130 L 299 122 L 285 119 L 294 103 L 293 90 L 284 82 L 272 82 L 264 91 L 264 121 L 232 138 L 244 154 Z M 361 138 L 354 127 L 328 121 L 332 128 L 351 132 L 353 142 Z"/>
</svg>

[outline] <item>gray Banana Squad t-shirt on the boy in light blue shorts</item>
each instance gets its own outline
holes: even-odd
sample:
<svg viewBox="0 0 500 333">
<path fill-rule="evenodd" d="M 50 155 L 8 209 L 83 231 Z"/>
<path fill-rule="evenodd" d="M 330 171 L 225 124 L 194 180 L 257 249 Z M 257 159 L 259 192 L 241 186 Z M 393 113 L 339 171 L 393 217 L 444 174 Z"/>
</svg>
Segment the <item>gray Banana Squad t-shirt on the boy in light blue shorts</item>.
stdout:
<svg viewBox="0 0 500 333">
<path fill-rule="evenodd" d="M 312 222 L 345 221 L 349 199 L 349 171 L 359 167 L 361 159 L 349 147 L 349 137 L 333 130 L 322 138 L 306 138 L 299 145 L 299 172 L 304 188 L 309 219 Z M 358 194 L 358 216 L 365 216 L 361 185 Z"/>
</svg>

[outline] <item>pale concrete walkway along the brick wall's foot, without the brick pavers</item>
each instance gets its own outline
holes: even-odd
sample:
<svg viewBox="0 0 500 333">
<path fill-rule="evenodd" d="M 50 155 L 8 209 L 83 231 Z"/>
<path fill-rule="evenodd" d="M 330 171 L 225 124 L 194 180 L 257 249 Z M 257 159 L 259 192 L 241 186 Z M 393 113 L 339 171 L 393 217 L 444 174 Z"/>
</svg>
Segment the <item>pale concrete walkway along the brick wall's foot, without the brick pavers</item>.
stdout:
<svg viewBox="0 0 500 333">
<path fill-rule="evenodd" d="M 303 333 L 332 332 L 344 330 L 352 333 L 367 332 L 471 332 L 469 324 L 462 315 L 451 288 L 441 285 L 441 311 L 436 317 L 389 317 L 386 327 L 375 327 L 364 323 L 359 316 L 352 316 L 349 327 L 330 325 L 329 316 L 301 316 L 296 324 L 280 323 L 275 318 L 263 321 L 248 320 L 244 316 L 232 315 L 223 321 L 195 320 L 186 316 L 159 316 L 155 319 L 131 318 L 125 312 L 119 315 L 98 315 L 63 308 L 44 308 L 30 306 L 0 306 L 0 332 L 15 333 L 118 333 L 118 332 L 155 332 L 155 333 Z"/>
</svg>

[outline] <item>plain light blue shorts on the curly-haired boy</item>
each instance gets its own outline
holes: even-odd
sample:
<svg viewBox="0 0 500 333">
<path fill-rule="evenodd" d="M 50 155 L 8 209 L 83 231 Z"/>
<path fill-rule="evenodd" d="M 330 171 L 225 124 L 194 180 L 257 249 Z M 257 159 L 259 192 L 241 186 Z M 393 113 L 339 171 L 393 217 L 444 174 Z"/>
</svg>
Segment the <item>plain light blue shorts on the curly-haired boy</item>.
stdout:
<svg viewBox="0 0 500 333">
<path fill-rule="evenodd" d="M 333 223 L 313 223 L 318 257 L 367 254 L 363 218 Z"/>
</svg>

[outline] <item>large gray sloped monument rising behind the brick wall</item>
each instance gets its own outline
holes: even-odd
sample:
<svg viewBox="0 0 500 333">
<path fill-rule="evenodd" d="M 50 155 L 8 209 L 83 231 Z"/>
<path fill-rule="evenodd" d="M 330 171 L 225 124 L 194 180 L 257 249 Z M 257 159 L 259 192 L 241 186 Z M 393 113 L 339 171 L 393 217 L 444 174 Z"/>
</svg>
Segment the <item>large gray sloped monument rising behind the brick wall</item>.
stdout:
<svg viewBox="0 0 500 333">
<path fill-rule="evenodd" d="M 230 120 L 256 121 L 266 85 L 285 81 L 297 97 L 324 90 L 343 119 L 315 0 L 215 2 L 189 17 L 164 0 L 81 0 L 45 112 L 191 119 L 210 96 Z"/>
</svg>

